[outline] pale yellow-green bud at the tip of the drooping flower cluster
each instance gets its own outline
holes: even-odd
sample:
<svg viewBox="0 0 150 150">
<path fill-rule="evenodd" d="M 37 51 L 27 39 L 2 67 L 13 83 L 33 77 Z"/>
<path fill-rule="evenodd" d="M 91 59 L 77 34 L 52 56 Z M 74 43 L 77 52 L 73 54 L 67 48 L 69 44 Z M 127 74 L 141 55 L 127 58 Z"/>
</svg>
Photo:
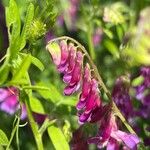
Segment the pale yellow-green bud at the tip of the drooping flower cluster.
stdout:
<svg viewBox="0 0 150 150">
<path fill-rule="evenodd" d="M 46 49 L 50 52 L 53 62 L 56 66 L 58 66 L 61 62 L 61 49 L 58 43 L 48 43 Z"/>
</svg>

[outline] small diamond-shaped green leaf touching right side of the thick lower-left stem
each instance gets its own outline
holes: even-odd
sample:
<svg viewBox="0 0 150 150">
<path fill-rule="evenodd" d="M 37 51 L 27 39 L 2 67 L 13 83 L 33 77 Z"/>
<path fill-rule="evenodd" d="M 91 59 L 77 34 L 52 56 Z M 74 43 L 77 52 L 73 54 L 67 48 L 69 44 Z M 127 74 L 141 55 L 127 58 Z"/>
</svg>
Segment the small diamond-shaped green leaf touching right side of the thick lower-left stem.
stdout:
<svg viewBox="0 0 150 150">
<path fill-rule="evenodd" d="M 30 97 L 30 106 L 32 111 L 40 114 L 46 114 L 41 101 L 35 97 Z"/>
</svg>

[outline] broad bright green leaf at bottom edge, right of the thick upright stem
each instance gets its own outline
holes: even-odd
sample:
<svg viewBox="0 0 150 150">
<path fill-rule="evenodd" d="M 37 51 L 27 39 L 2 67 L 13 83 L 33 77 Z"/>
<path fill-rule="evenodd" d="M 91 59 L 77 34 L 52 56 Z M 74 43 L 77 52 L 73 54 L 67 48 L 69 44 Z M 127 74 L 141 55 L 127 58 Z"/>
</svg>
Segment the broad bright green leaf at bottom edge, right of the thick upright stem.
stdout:
<svg viewBox="0 0 150 150">
<path fill-rule="evenodd" d="M 56 150 L 69 150 L 69 145 L 61 129 L 52 125 L 48 128 L 48 135 Z"/>
</svg>

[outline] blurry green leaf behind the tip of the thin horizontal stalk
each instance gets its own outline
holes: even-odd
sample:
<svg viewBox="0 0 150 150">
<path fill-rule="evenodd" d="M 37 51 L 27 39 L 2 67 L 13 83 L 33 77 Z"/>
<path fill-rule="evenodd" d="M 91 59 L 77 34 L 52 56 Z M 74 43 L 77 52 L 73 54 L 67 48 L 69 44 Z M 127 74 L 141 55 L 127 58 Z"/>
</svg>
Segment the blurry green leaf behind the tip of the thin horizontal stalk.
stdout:
<svg viewBox="0 0 150 150">
<path fill-rule="evenodd" d="M 38 93 L 46 100 L 51 100 L 52 102 L 56 103 L 59 102 L 63 99 L 62 95 L 59 93 L 57 88 L 50 84 L 50 85 L 45 85 L 44 83 L 38 83 L 38 86 L 45 86 L 49 88 L 49 91 L 44 91 L 44 90 L 38 90 Z"/>
</svg>

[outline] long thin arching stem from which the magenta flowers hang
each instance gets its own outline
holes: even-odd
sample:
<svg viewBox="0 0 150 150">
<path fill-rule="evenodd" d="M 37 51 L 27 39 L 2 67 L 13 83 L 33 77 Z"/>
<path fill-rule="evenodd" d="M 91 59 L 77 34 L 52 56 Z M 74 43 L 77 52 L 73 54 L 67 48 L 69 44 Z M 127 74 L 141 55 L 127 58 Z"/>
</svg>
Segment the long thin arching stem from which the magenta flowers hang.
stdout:
<svg viewBox="0 0 150 150">
<path fill-rule="evenodd" d="M 97 69 L 97 67 L 95 66 L 93 60 L 90 58 L 89 54 L 87 53 L 86 49 L 84 48 L 84 46 L 82 46 L 78 41 L 76 41 L 75 39 L 73 38 L 70 38 L 68 36 L 62 36 L 62 37 L 58 37 L 58 38 L 55 38 L 49 42 L 54 42 L 56 40 L 63 40 L 63 39 L 66 39 L 66 40 L 70 40 L 72 42 L 74 42 L 84 53 L 85 55 L 87 56 L 93 70 L 94 70 L 94 73 L 95 73 L 95 77 L 97 77 L 97 80 L 99 82 L 99 85 L 103 88 L 105 94 L 107 95 L 107 97 L 109 98 L 111 104 L 112 104 L 112 110 L 114 112 L 114 114 L 116 116 L 118 116 L 120 118 L 120 120 L 123 122 L 123 124 L 126 126 L 126 128 L 129 130 L 130 133 L 132 134 L 135 134 L 136 133 L 134 132 L 134 130 L 132 129 L 132 127 L 127 123 L 125 117 L 122 115 L 122 113 L 120 112 L 120 110 L 118 109 L 118 107 L 116 106 L 116 104 L 114 103 L 112 97 L 111 97 L 111 93 L 109 92 L 109 90 L 107 89 L 106 85 L 104 84 L 100 74 L 99 74 L 99 71 Z"/>
</svg>

